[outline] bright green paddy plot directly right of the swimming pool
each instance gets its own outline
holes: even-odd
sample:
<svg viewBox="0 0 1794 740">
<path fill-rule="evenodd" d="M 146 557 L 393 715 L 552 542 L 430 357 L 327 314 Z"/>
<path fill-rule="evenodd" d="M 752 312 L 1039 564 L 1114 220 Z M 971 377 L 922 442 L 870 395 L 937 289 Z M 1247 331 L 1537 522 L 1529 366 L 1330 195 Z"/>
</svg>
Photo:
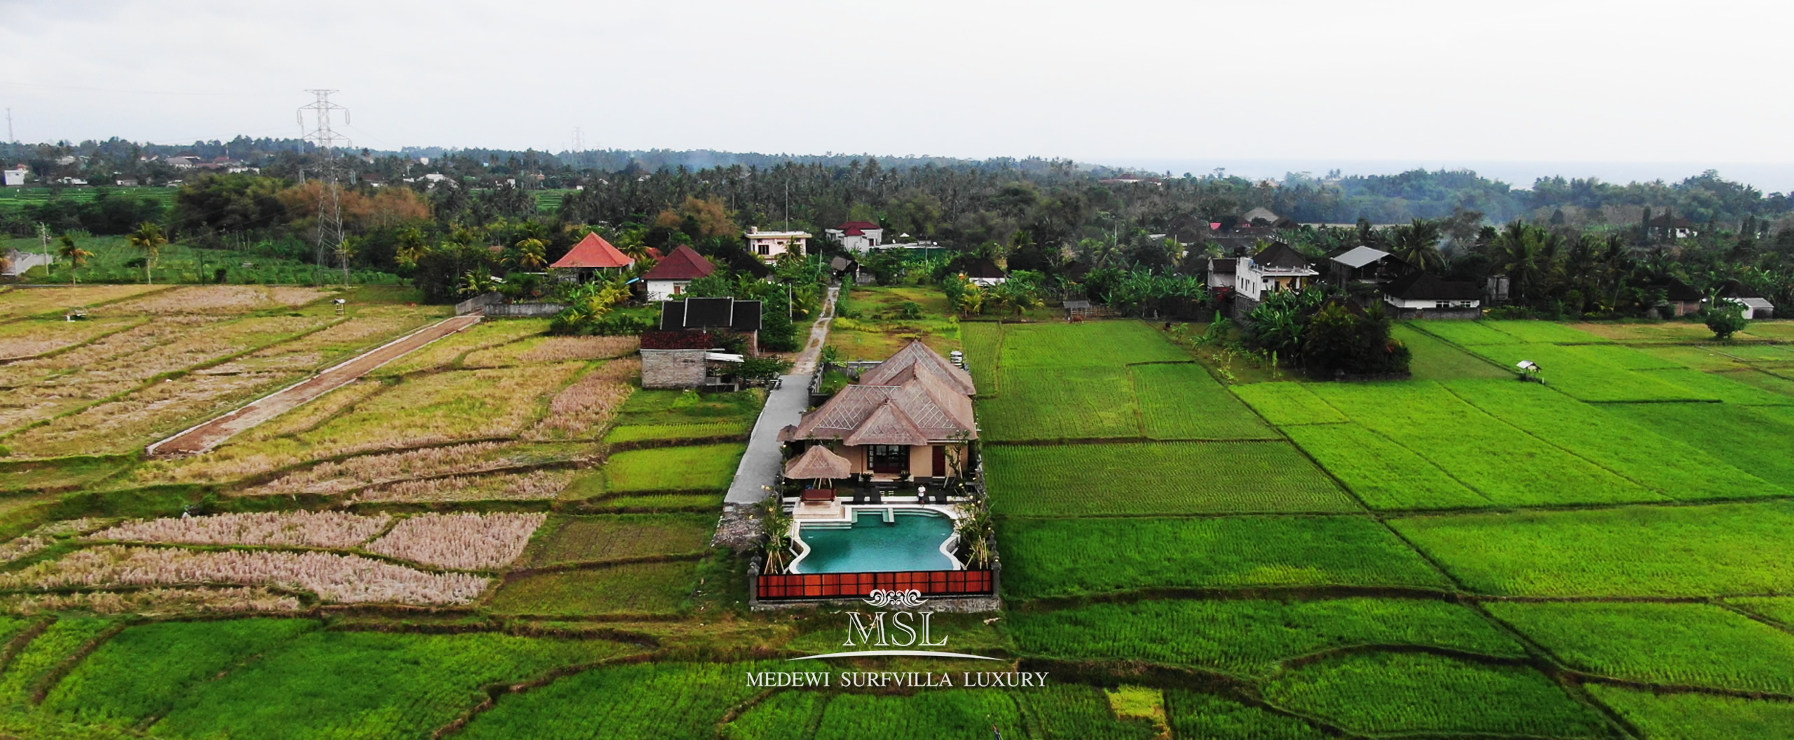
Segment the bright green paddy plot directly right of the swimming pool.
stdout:
<svg viewBox="0 0 1794 740">
<path fill-rule="evenodd" d="M 1414 586 L 1446 578 L 1369 517 L 1008 517 L 1006 598 L 1254 586 Z"/>
</svg>

